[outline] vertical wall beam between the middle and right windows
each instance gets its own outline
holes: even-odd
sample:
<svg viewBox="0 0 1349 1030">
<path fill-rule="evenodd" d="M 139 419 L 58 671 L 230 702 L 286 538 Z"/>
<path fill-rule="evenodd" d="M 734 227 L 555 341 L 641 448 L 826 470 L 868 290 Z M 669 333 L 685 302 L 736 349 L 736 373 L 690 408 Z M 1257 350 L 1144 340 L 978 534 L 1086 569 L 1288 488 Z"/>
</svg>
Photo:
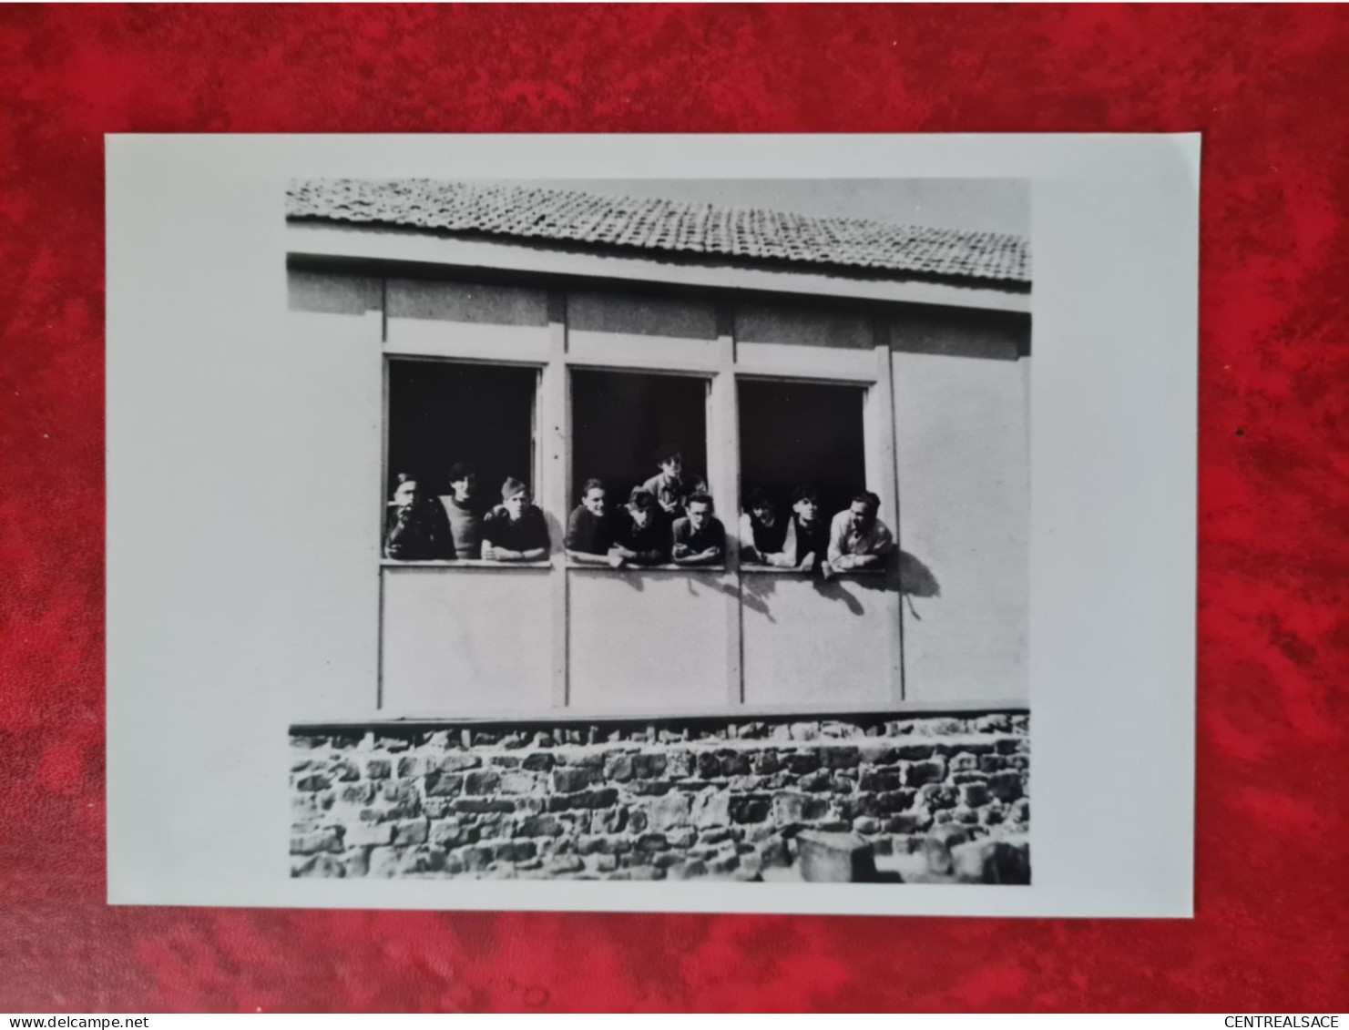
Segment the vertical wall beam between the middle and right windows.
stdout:
<svg viewBox="0 0 1349 1030">
<path fill-rule="evenodd" d="M 741 423 L 739 398 L 735 388 L 733 318 L 728 309 L 718 309 L 718 365 L 707 404 L 707 479 L 716 502 L 718 518 L 726 526 L 726 573 L 722 577 L 726 599 L 726 700 L 727 704 L 739 705 L 745 700 L 741 639 L 741 549 L 737 534 L 737 512 L 741 507 Z"/>
</svg>

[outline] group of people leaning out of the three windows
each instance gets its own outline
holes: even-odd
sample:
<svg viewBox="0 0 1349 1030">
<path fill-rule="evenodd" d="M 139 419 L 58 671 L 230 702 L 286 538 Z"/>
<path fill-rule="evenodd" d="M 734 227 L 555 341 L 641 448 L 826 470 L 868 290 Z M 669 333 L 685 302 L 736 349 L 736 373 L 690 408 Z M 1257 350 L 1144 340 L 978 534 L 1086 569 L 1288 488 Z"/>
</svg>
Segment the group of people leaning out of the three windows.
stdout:
<svg viewBox="0 0 1349 1030">
<path fill-rule="evenodd" d="M 602 480 L 585 481 L 580 504 L 567 520 L 564 546 L 572 561 L 615 569 L 722 565 L 726 528 L 706 483 L 685 473 L 677 445 L 662 446 L 656 464 L 660 471 L 618 507 Z M 387 558 L 519 562 L 548 557 L 548 522 L 532 503 L 529 487 L 515 477 L 506 479 L 500 504 L 490 510 L 478 496 L 476 469 L 467 462 L 451 468 L 451 493 L 440 497 L 425 492 L 411 475 L 399 473 L 395 481 L 384 531 Z M 884 568 L 894 538 L 877 515 L 880 507 L 880 497 L 862 492 L 827 519 L 809 484 L 792 492 L 791 511 L 754 489 L 739 523 L 741 559 L 824 578 Z"/>
</svg>

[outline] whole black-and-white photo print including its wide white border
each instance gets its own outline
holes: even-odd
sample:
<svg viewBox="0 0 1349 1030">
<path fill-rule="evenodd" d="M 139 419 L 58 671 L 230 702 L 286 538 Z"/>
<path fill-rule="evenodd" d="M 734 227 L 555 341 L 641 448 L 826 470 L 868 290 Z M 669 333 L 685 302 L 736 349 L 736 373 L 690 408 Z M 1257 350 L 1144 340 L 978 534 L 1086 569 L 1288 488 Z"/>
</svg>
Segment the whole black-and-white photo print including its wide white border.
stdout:
<svg viewBox="0 0 1349 1030">
<path fill-rule="evenodd" d="M 1197 174 L 109 136 L 109 901 L 1186 914 Z"/>
</svg>

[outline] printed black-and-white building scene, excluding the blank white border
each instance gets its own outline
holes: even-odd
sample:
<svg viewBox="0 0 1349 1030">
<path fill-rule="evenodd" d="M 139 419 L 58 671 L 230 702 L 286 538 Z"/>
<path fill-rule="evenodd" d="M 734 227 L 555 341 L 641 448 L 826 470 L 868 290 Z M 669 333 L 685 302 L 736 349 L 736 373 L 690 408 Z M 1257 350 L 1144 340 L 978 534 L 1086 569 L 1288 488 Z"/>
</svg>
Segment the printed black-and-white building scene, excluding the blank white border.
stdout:
<svg viewBox="0 0 1349 1030">
<path fill-rule="evenodd" d="M 378 713 L 290 728 L 291 875 L 1029 883 L 1028 229 L 1024 181 L 291 182 L 287 508 Z"/>
</svg>

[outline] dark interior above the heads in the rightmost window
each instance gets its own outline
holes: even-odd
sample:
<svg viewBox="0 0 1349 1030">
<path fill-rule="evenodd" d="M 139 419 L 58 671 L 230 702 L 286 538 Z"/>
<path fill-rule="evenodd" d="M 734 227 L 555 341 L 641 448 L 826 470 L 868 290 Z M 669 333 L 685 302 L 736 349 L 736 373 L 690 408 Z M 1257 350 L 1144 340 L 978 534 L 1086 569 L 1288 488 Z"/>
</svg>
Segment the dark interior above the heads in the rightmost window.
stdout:
<svg viewBox="0 0 1349 1030">
<path fill-rule="evenodd" d="M 759 488 L 785 514 L 792 491 L 809 483 L 826 518 L 846 508 L 866 487 L 863 398 L 861 387 L 742 379 L 745 495 Z"/>
</svg>

